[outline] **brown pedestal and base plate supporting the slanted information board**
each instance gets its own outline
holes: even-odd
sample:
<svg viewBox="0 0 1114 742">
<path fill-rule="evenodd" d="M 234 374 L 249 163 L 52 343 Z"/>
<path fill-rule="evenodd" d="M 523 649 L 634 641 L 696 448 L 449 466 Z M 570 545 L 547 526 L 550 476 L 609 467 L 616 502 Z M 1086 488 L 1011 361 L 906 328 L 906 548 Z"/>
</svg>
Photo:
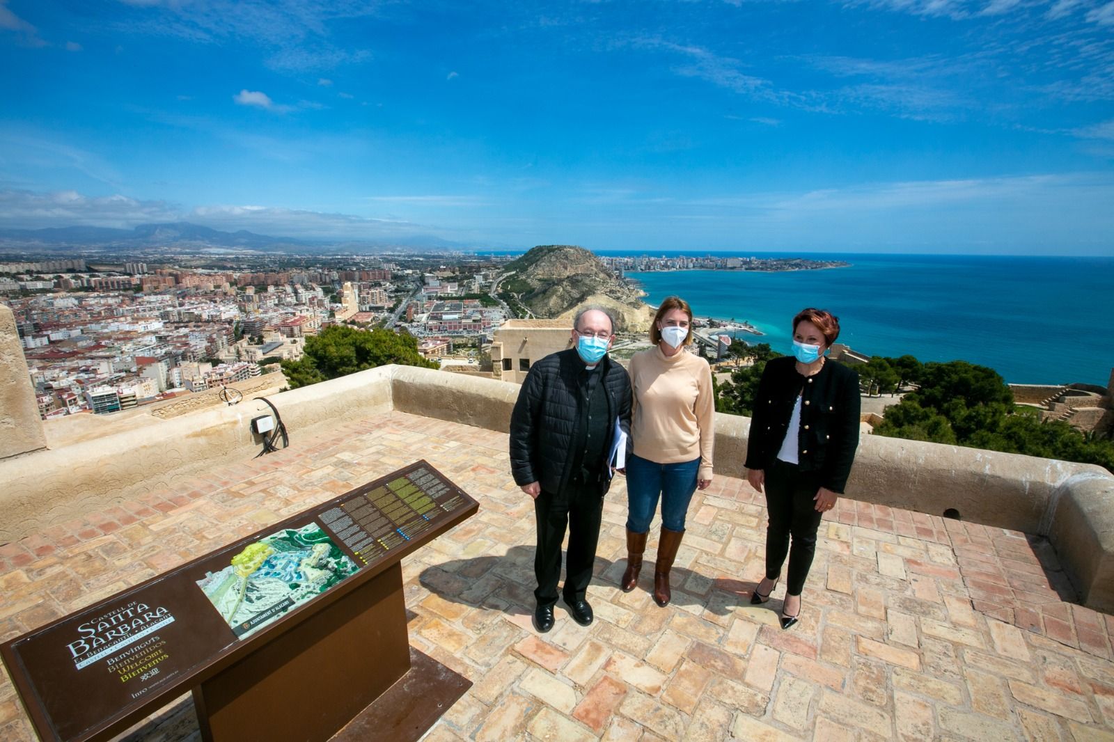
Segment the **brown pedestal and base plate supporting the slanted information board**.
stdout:
<svg viewBox="0 0 1114 742">
<path fill-rule="evenodd" d="M 471 683 L 421 653 L 414 654 L 418 672 L 411 671 L 411 655 L 402 567 L 395 562 L 195 687 L 202 739 L 324 742 L 350 722 L 356 725 L 365 717 L 373 720 L 367 729 L 378 738 L 387 731 L 384 724 L 402 732 L 413 725 L 411 716 L 418 721 L 433 706 L 437 713 L 418 736 L 388 738 L 417 740 Z M 446 686 L 451 695 L 460 683 L 429 663 L 465 683 L 441 707 L 433 686 Z M 400 680 L 405 682 L 397 691 L 392 686 Z M 407 691 L 407 685 L 414 690 Z M 443 692 L 440 695 L 448 697 Z"/>
</svg>

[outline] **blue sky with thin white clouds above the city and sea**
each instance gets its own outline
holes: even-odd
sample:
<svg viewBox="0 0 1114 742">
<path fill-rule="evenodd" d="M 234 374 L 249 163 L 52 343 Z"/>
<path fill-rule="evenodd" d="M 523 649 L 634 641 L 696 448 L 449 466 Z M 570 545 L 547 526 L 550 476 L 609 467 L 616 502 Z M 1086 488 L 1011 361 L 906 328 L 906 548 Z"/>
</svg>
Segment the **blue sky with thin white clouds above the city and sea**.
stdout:
<svg viewBox="0 0 1114 742">
<path fill-rule="evenodd" d="M 1114 255 L 1114 1 L 0 0 L 0 228 Z"/>
</svg>

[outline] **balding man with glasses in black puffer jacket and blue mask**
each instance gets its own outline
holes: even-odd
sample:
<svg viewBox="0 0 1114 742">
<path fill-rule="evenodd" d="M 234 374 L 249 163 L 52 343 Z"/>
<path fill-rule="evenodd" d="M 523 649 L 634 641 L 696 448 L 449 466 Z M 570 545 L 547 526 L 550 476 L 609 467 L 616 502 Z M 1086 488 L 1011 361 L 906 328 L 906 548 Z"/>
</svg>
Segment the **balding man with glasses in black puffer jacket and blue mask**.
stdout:
<svg viewBox="0 0 1114 742">
<path fill-rule="evenodd" d="M 604 495 L 610 486 L 610 450 L 617 430 L 631 432 L 631 379 L 607 357 L 615 320 L 597 306 L 573 321 L 574 348 L 530 368 L 510 416 L 510 468 L 534 498 L 538 546 L 534 573 L 534 625 L 554 625 L 560 545 L 568 527 L 561 597 L 582 626 L 592 623 L 585 599 L 599 539 Z"/>
</svg>

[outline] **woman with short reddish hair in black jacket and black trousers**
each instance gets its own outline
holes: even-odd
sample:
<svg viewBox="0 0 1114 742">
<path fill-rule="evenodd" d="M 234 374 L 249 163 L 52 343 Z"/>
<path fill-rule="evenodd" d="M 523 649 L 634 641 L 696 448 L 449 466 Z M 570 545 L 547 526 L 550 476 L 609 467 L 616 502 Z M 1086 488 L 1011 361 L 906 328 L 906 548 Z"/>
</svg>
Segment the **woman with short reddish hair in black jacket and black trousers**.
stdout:
<svg viewBox="0 0 1114 742">
<path fill-rule="evenodd" d="M 789 553 L 781 627 L 801 615 L 823 514 L 843 494 L 859 445 L 859 374 L 829 362 L 839 318 L 818 309 L 793 318 L 793 355 L 766 362 L 746 445 L 746 480 L 765 492 L 765 577 L 751 603 L 770 599 Z M 792 548 L 790 548 L 792 536 Z"/>
</svg>

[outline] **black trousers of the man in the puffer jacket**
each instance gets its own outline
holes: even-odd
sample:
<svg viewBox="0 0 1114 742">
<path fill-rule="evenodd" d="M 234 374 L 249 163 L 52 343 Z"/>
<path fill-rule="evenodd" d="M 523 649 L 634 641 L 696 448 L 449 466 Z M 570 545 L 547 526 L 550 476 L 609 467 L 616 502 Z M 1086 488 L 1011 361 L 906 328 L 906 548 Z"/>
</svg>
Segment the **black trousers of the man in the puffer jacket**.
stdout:
<svg viewBox="0 0 1114 742">
<path fill-rule="evenodd" d="M 534 554 L 534 574 L 538 588 L 534 590 L 539 606 L 557 603 L 560 580 L 560 545 L 568 528 L 568 555 L 565 558 L 566 603 L 583 601 L 596 560 L 599 521 L 604 498 L 598 485 L 571 486 L 558 494 L 543 491 L 534 500 L 538 524 L 538 548 Z"/>
</svg>

